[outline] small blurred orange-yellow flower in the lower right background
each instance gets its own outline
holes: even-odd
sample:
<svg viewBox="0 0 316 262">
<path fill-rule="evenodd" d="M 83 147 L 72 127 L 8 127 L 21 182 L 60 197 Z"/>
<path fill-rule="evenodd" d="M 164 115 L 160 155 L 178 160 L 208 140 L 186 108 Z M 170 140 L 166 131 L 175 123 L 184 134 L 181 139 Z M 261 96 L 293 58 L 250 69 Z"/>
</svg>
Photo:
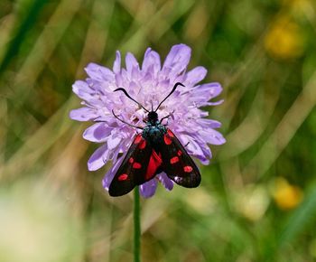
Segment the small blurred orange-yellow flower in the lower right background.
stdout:
<svg viewBox="0 0 316 262">
<path fill-rule="evenodd" d="M 302 201 L 302 190 L 279 177 L 275 180 L 273 197 L 281 210 L 292 210 Z"/>
</svg>

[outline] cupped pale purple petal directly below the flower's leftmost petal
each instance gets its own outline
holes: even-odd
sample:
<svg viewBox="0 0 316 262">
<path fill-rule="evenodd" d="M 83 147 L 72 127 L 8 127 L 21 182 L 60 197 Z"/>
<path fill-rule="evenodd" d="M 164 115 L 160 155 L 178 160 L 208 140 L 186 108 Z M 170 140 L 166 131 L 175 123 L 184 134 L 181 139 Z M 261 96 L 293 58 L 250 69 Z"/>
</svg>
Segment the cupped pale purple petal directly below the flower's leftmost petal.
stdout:
<svg viewBox="0 0 316 262">
<path fill-rule="evenodd" d="M 106 126 L 105 123 L 97 123 L 89 126 L 83 133 L 83 138 L 91 142 L 105 142 L 110 136 L 113 128 Z M 110 149 L 110 148 L 109 148 Z"/>
</svg>

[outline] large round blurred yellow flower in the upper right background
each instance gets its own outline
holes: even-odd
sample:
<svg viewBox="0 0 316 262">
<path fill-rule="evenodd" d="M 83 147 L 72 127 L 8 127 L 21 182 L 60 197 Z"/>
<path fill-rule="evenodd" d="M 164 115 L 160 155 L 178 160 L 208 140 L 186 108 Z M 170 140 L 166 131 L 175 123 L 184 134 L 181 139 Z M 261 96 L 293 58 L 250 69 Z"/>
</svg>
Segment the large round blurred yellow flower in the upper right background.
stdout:
<svg viewBox="0 0 316 262">
<path fill-rule="evenodd" d="M 265 50 L 276 59 L 293 59 L 303 52 L 300 26 L 287 16 L 277 18 L 265 35 Z"/>
</svg>

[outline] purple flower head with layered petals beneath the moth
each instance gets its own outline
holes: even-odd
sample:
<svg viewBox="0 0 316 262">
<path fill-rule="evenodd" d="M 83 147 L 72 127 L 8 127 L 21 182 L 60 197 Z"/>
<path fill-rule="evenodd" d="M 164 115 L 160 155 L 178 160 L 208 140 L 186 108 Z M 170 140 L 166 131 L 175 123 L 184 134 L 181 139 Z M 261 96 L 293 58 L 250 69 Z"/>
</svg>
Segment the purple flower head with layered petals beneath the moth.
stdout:
<svg viewBox="0 0 316 262">
<path fill-rule="evenodd" d="M 191 48 L 185 44 L 177 44 L 172 47 L 162 65 L 159 54 L 148 48 L 142 65 L 128 52 L 125 56 L 125 68 L 122 68 L 121 54 L 116 51 L 112 70 L 89 63 L 86 68 L 88 79 L 78 80 L 73 84 L 73 92 L 83 100 L 83 107 L 72 110 L 70 118 L 95 121 L 95 124 L 85 130 L 83 137 L 101 144 L 89 158 L 88 170 L 98 170 L 108 161 L 114 163 L 103 180 L 106 189 L 122 162 L 121 153 L 128 150 L 135 136 L 135 128 L 116 119 L 112 110 L 125 122 L 135 126 L 144 126 L 143 119 L 147 114 L 143 108 L 126 98 L 123 92 L 114 92 L 117 88 L 126 89 L 144 108 L 152 108 L 152 105 L 156 108 L 171 91 L 174 83 L 181 82 L 185 87 L 177 89 L 163 102 L 157 111 L 158 116 L 162 118 L 172 114 L 168 127 L 182 145 L 190 142 L 186 147 L 188 153 L 200 159 L 202 164 L 209 164 L 212 157 L 208 144 L 225 143 L 225 138 L 215 130 L 221 124 L 205 118 L 208 117 L 208 112 L 200 109 L 220 104 L 222 100 L 209 100 L 217 97 L 222 88 L 218 83 L 198 84 L 205 78 L 207 70 L 196 67 L 186 71 L 190 58 Z M 158 182 L 167 190 L 172 190 L 173 182 L 165 173 L 160 173 L 140 186 L 142 195 L 152 196 Z"/>
</svg>

